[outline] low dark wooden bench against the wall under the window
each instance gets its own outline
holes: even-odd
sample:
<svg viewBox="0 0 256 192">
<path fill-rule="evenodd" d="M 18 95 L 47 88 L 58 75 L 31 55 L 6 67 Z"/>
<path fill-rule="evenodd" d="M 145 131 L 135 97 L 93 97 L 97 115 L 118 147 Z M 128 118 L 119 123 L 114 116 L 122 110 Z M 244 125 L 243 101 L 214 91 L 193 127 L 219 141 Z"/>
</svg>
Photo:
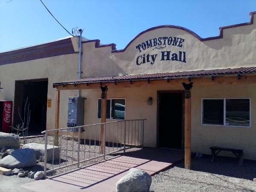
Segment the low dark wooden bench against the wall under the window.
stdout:
<svg viewBox="0 0 256 192">
<path fill-rule="evenodd" d="M 212 163 L 214 162 L 214 157 L 221 151 L 230 151 L 232 152 L 234 155 L 236 155 L 236 157 L 239 158 L 239 166 L 243 165 L 243 160 L 244 160 L 244 152 L 242 149 L 237 149 L 237 148 L 225 148 L 225 147 L 210 147 L 210 149 L 212 150 Z"/>
</svg>

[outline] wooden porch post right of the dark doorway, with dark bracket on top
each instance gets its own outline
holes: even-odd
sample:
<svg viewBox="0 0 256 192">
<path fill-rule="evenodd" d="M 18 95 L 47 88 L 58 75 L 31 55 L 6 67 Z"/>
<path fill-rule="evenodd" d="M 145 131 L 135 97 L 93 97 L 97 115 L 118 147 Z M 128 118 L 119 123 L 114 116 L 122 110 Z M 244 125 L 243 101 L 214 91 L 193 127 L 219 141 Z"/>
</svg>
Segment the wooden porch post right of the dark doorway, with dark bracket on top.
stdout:
<svg viewBox="0 0 256 192">
<path fill-rule="evenodd" d="M 191 169 L 191 93 L 192 82 L 189 84 L 182 83 L 185 88 L 185 169 Z"/>
</svg>

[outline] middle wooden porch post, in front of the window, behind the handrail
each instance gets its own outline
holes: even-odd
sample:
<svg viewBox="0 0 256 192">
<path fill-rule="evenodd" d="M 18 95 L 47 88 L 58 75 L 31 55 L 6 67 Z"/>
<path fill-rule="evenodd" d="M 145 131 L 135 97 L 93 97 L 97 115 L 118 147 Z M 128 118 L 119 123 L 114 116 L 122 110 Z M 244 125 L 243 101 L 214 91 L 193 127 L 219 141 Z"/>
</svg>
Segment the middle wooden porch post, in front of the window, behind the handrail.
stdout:
<svg viewBox="0 0 256 192">
<path fill-rule="evenodd" d="M 102 90 L 102 94 L 101 94 L 101 122 L 105 123 L 106 119 L 107 119 L 107 91 L 108 91 L 108 86 L 105 87 L 100 87 Z M 101 145 L 100 145 L 100 149 L 101 149 L 101 153 L 104 154 L 105 151 L 105 125 L 102 124 L 101 125 L 101 129 L 100 129 L 100 137 L 101 137 Z"/>
</svg>

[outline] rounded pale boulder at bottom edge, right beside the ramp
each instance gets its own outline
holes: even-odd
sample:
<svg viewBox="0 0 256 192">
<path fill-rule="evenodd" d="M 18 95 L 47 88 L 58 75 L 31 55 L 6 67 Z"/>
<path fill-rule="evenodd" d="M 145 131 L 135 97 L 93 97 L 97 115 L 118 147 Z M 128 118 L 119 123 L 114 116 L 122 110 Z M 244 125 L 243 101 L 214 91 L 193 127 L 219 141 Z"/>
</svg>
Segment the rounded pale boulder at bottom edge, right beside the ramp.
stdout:
<svg viewBox="0 0 256 192">
<path fill-rule="evenodd" d="M 116 192 L 149 192 L 151 176 L 147 172 L 131 168 L 127 175 L 116 183 Z"/>
</svg>

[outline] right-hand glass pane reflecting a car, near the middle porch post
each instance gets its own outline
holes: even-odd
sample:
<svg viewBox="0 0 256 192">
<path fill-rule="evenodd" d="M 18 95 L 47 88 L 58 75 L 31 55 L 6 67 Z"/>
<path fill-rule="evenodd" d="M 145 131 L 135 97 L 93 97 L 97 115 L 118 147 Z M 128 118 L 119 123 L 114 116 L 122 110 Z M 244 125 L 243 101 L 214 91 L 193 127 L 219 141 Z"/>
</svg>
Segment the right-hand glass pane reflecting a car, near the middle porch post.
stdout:
<svg viewBox="0 0 256 192">
<path fill-rule="evenodd" d="M 125 99 L 111 99 L 111 107 L 113 119 L 125 119 Z"/>
</svg>

